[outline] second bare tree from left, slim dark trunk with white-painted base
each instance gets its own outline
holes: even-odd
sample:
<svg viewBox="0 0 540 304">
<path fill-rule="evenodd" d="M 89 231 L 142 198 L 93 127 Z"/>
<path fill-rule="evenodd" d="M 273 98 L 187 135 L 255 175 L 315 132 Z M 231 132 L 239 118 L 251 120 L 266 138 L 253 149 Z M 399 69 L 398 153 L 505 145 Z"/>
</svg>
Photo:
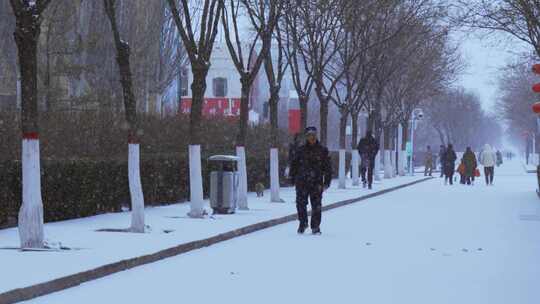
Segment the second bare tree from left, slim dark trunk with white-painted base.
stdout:
<svg viewBox="0 0 540 304">
<path fill-rule="evenodd" d="M 114 45 L 116 46 L 116 61 L 120 72 L 122 93 L 124 96 L 124 108 L 128 125 L 128 178 L 129 192 L 131 196 L 131 231 L 144 232 L 144 196 L 140 174 L 140 149 L 139 149 L 139 123 L 137 121 L 137 102 L 133 93 L 133 80 L 130 67 L 130 47 L 120 37 L 116 22 L 116 0 L 103 0 L 105 13 L 111 23 Z"/>
</svg>

